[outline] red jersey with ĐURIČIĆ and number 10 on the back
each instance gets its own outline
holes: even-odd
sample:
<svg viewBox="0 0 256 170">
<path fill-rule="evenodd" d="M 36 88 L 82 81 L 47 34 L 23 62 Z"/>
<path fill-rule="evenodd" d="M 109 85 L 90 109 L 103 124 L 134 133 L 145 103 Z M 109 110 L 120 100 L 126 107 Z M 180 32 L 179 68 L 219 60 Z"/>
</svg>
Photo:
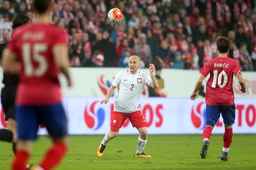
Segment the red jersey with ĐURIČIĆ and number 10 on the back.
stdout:
<svg viewBox="0 0 256 170">
<path fill-rule="evenodd" d="M 229 106 L 234 103 L 233 74 L 240 73 L 240 65 L 229 57 L 216 57 L 209 60 L 200 70 L 203 77 L 210 77 L 206 85 L 205 101 L 210 106 Z"/>
</svg>

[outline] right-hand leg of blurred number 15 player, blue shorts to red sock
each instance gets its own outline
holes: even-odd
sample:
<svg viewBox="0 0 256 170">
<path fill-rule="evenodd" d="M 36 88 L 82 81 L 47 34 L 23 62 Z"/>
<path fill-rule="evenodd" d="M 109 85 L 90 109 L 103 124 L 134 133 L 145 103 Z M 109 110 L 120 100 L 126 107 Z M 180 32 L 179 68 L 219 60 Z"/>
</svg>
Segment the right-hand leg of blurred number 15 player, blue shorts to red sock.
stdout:
<svg viewBox="0 0 256 170">
<path fill-rule="evenodd" d="M 39 108 L 41 121 L 53 139 L 53 144 L 45 153 L 39 167 L 50 170 L 61 162 L 67 152 L 67 117 L 61 103 Z"/>
</svg>

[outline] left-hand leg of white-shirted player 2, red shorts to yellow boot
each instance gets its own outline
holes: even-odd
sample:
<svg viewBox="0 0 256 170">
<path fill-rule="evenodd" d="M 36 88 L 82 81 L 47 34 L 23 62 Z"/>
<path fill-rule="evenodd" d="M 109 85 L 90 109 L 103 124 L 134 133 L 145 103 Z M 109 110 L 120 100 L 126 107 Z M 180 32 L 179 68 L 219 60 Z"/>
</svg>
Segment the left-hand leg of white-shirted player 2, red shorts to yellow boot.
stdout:
<svg viewBox="0 0 256 170">
<path fill-rule="evenodd" d="M 128 113 L 112 112 L 110 131 L 105 134 L 102 142 L 100 142 L 97 149 L 97 156 L 102 157 L 108 142 L 118 135 L 119 129 L 122 127 L 127 117 Z"/>
</svg>

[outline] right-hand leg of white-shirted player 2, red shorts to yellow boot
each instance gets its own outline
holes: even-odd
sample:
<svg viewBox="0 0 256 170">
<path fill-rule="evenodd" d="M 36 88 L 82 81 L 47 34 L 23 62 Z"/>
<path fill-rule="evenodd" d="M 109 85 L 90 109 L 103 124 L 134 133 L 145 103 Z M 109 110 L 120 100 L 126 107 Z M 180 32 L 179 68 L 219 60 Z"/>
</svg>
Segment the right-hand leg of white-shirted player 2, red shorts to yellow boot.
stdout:
<svg viewBox="0 0 256 170">
<path fill-rule="evenodd" d="M 135 156 L 151 158 L 151 156 L 146 155 L 143 152 L 148 141 L 148 130 L 146 127 L 147 125 L 146 125 L 145 117 L 143 116 L 143 113 L 141 111 L 133 112 L 130 114 L 129 119 L 131 121 L 132 126 L 136 127 L 140 133 L 140 136 L 138 137 L 138 141 L 137 141 L 138 144 L 137 144 L 137 151 Z"/>
</svg>

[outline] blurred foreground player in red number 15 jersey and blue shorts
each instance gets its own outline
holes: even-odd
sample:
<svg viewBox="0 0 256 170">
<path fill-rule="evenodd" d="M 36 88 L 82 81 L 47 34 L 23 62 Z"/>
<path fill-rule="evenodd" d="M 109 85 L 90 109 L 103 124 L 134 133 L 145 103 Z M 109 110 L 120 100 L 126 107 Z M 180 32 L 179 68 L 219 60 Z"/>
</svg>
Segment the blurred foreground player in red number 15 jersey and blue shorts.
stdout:
<svg viewBox="0 0 256 170">
<path fill-rule="evenodd" d="M 51 0 L 34 0 L 35 23 L 17 28 L 3 52 L 3 71 L 19 74 L 16 94 L 18 142 L 12 170 L 26 170 L 26 163 L 37 138 L 38 127 L 45 125 L 52 136 L 49 148 L 38 167 L 50 170 L 67 151 L 67 117 L 61 104 L 59 72 L 69 75 L 68 36 L 50 25 Z"/>
</svg>

